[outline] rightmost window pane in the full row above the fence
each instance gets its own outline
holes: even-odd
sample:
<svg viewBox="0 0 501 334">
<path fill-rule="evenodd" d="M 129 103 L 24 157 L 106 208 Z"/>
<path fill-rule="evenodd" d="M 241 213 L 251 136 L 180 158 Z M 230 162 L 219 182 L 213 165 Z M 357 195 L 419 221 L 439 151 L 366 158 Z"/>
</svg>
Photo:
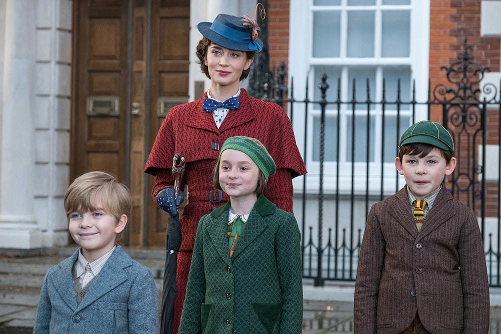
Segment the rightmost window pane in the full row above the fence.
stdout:
<svg viewBox="0 0 501 334">
<path fill-rule="evenodd" d="M 410 12 L 383 11 L 382 57 L 409 57 Z"/>
</svg>

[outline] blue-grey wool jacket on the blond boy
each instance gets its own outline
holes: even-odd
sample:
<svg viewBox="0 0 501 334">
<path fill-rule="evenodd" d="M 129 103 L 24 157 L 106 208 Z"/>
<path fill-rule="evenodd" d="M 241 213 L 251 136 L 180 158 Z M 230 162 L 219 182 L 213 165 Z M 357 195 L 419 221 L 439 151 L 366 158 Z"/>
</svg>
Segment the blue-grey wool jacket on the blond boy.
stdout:
<svg viewBox="0 0 501 334">
<path fill-rule="evenodd" d="M 158 290 L 150 270 L 117 245 L 77 304 L 75 253 L 49 269 L 33 332 L 158 334 Z"/>
</svg>

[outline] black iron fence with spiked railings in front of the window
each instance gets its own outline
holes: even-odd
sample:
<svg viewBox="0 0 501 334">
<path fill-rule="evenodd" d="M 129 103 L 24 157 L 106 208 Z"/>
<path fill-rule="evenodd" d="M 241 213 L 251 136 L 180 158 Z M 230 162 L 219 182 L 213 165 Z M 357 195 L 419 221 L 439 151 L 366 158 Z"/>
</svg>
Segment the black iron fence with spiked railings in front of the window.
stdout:
<svg viewBox="0 0 501 334">
<path fill-rule="evenodd" d="M 416 100 L 415 82 L 410 99 L 403 101 L 400 80 L 395 100 L 386 99 L 383 80 L 382 99 L 372 101 L 368 79 L 364 101 L 355 98 L 355 80 L 352 99 L 343 101 L 340 79 L 336 98 L 328 100 L 325 74 L 316 87 L 320 99 L 309 99 L 307 84 L 306 98 L 299 100 L 294 78 L 290 88 L 284 85 L 285 65 L 262 86 L 263 99 L 287 110 L 310 172 L 295 180 L 294 209 L 303 236 L 303 275 L 315 285 L 355 280 L 370 206 L 404 185 L 393 167 L 399 137 L 410 124 L 431 116 L 450 131 L 455 144 L 458 164 L 446 185 L 477 213 L 489 282 L 501 286 L 501 83 L 485 83 L 489 70 L 473 62 L 466 41 L 457 62 L 442 69 L 447 84 L 428 84 L 427 101 Z"/>
</svg>

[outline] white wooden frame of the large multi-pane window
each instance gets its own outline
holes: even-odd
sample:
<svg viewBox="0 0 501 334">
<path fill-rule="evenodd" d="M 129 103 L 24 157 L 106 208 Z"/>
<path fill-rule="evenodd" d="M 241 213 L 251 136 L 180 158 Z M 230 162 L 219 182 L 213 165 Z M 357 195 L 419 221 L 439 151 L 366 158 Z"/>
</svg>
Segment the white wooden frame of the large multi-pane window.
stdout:
<svg viewBox="0 0 501 334">
<path fill-rule="evenodd" d="M 429 16 L 430 16 L 430 2 L 429 0 L 411 0 L 410 5 L 406 6 L 384 6 L 384 9 L 410 9 L 410 54 L 408 58 L 347 58 L 346 55 L 346 12 L 342 12 L 341 15 L 341 36 L 340 36 L 340 57 L 339 58 L 314 58 L 313 57 L 313 13 L 314 11 L 328 11 L 332 9 L 340 9 L 346 6 L 347 0 L 341 0 L 342 6 L 313 6 L 314 0 L 291 0 L 290 3 L 290 42 L 289 42 L 289 77 L 294 77 L 294 98 L 296 100 L 303 100 L 305 98 L 306 90 L 306 78 L 308 78 L 309 85 L 309 96 L 310 101 L 314 100 L 314 90 L 317 90 L 318 82 L 314 82 L 314 69 L 313 66 L 316 65 L 337 65 L 342 67 L 342 81 L 341 86 L 347 87 L 348 83 L 348 67 L 347 66 L 373 66 L 376 67 L 376 92 L 375 101 L 381 101 L 382 92 L 382 67 L 385 65 L 403 65 L 410 66 L 411 69 L 411 80 L 415 80 L 416 84 L 416 101 L 425 102 L 428 99 L 428 59 L 429 59 Z M 376 0 L 376 6 L 350 6 L 350 10 L 367 10 L 376 9 L 381 5 L 382 0 Z M 381 25 L 378 25 L 380 21 L 381 10 L 375 11 L 375 55 L 381 55 L 380 45 L 381 45 Z M 379 16 L 379 18 L 378 18 Z M 411 83 L 412 89 L 412 83 Z M 348 89 L 342 89 L 342 101 L 348 101 Z M 335 115 L 335 106 L 328 106 L 326 111 L 326 116 Z M 371 150 L 376 147 L 380 151 L 381 147 L 381 106 L 377 105 L 375 110 L 371 111 L 371 115 L 376 116 L 376 134 L 375 143 L 371 143 Z M 351 110 L 349 111 L 351 113 Z M 396 112 L 393 112 L 396 115 Z M 386 115 L 391 115 L 391 111 L 386 111 Z M 307 147 L 307 157 L 306 163 L 308 168 L 308 179 L 307 179 L 307 192 L 316 193 L 319 188 L 319 172 L 320 163 L 318 161 L 313 161 L 313 120 L 315 116 L 320 115 L 320 110 L 314 110 L 313 105 L 309 105 L 308 111 L 308 129 L 306 135 L 308 136 L 308 147 Z M 367 115 L 366 112 L 360 111 L 356 115 Z M 401 113 L 401 115 L 405 115 Z M 427 118 L 427 107 L 426 105 L 416 106 L 416 121 L 420 119 Z M 341 118 L 341 132 L 340 132 L 340 183 L 339 191 L 342 193 L 351 192 L 351 162 L 343 162 L 344 159 L 341 157 L 346 155 L 346 151 L 342 148 L 344 141 L 351 140 L 346 138 L 346 124 L 343 120 L 346 118 Z M 296 134 L 296 142 L 300 148 L 301 153 L 304 155 L 304 108 L 301 104 L 297 104 L 294 107 L 294 119 L 293 119 L 294 132 Z M 343 134 L 345 134 L 343 136 Z M 395 148 L 396 149 L 396 148 Z M 370 193 L 378 194 L 380 192 L 381 184 L 381 154 L 376 153 L 375 162 L 369 163 L 370 166 L 370 179 L 369 179 L 369 189 Z M 386 158 L 386 157 L 385 157 Z M 379 159 L 379 161 L 378 161 Z M 336 191 L 336 164 L 337 162 L 325 161 L 324 162 L 324 192 L 333 193 Z M 350 170 L 346 171 L 349 167 Z M 366 189 L 366 178 L 365 178 L 365 162 L 355 163 L 355 183 L 354 191 L 355 193 L 365 194 Z M 396 170 L 393 163 L 384 164 L 384 191 L 394 192 L 395 189 L 404 184 L 403 178 L 396 177 Z M 398 185 L 395 183 L 398 182 Z M 294 189 L 296 192 L 303 191 L 303 181 L 302 178 L 294 179 Z"/>
</svg>

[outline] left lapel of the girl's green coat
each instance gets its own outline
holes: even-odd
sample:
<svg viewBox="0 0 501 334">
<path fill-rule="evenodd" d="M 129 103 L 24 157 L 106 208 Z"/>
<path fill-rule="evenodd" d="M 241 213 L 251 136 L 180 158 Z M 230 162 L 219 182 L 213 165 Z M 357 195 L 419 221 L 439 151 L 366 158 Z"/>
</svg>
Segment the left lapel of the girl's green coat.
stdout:
<svg viewBox="0 0 501 334">
<path fill-rule="evenodd" d="M 226 202 L 223 206 L 212 211 L 210 214 L 212 220 L 206 224 L 210 241 L 226 264 L 230 263 L 228 238 L 226 237 L 229 206 L 229 202 Z"/>
</svg>

